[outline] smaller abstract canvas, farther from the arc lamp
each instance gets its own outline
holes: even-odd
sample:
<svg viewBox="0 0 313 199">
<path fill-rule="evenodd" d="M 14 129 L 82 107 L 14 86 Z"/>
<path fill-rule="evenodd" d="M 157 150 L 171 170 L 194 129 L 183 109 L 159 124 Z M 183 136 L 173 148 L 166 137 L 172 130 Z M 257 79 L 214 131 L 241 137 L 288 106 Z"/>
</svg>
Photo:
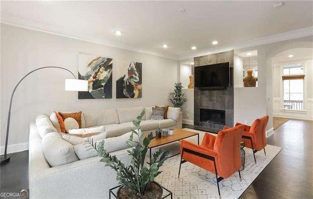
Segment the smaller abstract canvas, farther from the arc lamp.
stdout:
<svg viewBox="0 0 313 199">
<path fill-rule="evenodd" d="M 142 64 L 119 62 L 117 64 L 116 98 L 141 98 Z"/>
</svg>

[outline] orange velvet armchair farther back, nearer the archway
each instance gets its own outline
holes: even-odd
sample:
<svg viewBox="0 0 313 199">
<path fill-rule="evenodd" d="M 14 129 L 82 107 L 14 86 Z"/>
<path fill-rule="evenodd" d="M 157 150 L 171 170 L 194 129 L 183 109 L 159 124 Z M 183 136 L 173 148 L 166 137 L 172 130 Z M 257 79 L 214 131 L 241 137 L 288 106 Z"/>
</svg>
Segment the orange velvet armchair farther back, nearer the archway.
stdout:
<svg viewBox="0 0 313 199">
<path fill-rule="evenodd" d="M 244 125 L 240 123 L 236 123 L 237 125 Z M 257 151 L 264 149 L 267 145 L 266 141 L 266 126 L 268 125 L 268 116 L 264 116 L 262 118 L 256 119 L 251 126 L 244 125 L 245 130 L 243 133 L 243 141 L 245 142 L 245 147 L 252 149 L 253 151 L 253 157 L 254 162 L 256 164 L 255 160 L 255 154 Z"/>
</svg>

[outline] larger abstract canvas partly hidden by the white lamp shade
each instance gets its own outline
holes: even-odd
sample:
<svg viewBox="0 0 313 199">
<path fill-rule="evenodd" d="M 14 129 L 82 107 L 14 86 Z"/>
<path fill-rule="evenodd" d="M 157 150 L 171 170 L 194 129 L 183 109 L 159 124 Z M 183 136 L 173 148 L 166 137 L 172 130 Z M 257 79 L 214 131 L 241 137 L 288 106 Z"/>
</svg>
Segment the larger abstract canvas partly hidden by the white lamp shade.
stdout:
<svg viewBox="0 0 313 199">
<path fill-rule="evenodd" d="M 78 99 L 112 98 L 112 58 L 78 54 L 78 78 L 88 80 L 88 92 Z"/>
</svg>

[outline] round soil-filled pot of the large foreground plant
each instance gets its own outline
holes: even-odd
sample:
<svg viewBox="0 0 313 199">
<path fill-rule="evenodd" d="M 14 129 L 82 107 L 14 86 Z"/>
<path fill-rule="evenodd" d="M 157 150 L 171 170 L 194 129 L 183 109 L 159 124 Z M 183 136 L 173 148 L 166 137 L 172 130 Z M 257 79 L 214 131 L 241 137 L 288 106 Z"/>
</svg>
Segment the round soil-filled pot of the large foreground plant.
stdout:
<svg viewBox="0 0 313 199">
<path fill-rule="evenodd" d="M 157 182 L 150 182 L 147 185 L 147 191 L 144 195 L 138 196 L 134 192 L 129 191 L 124 186 L 120 186 L 117 190 L 118 199 L 161 199 L 163 188 Z"/>
</svg>

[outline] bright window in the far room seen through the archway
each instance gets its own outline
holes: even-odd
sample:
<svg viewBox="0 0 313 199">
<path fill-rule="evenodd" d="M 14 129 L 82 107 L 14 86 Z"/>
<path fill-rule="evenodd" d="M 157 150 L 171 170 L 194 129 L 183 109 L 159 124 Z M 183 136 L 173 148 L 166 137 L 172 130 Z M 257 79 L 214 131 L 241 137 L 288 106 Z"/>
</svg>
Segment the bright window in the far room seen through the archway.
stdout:
<svg viewBox="0 0 313 199">
<path fill-rule="evenodd" d="M 283 66 L 284 109 L 303 110 L 304 63 Z"/>
</svg>

